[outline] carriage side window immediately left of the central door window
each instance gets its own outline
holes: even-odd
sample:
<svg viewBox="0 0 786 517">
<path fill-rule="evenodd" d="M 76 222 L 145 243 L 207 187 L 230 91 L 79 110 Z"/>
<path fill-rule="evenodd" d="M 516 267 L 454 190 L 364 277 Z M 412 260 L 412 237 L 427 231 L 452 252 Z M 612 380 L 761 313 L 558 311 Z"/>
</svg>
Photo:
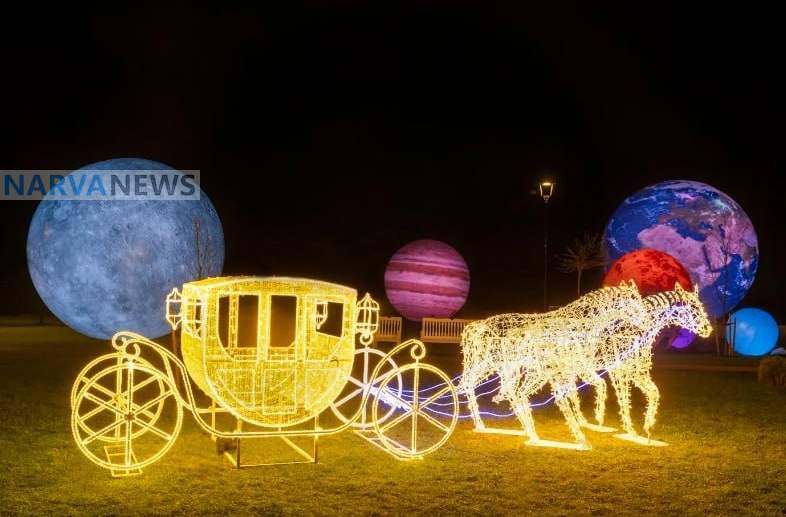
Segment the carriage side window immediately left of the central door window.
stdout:
<svg viewBox="0 0 786 517">
<path fill-rule="evenodd" d="M 253 348 L 257 346 L 259 322 L 259 296 L 222 296 L 218 299 L 218 336 L 229 348 Z"/>
</svg>

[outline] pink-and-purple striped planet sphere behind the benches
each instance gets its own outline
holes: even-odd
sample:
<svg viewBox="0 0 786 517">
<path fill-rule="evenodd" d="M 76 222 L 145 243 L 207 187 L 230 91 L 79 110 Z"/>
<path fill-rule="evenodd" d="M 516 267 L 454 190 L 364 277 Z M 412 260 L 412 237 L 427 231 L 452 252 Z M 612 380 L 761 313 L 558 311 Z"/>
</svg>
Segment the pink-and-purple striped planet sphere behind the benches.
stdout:
<svg viewBox="0 0 786 517">
<path fill-rule="evenodd" d="M 469 293 L 469 268 L 452 246 L 433 239 L 396 251 L 385 269 L 385 292 L 404 318 L 450 318 Z"/>
</svg>

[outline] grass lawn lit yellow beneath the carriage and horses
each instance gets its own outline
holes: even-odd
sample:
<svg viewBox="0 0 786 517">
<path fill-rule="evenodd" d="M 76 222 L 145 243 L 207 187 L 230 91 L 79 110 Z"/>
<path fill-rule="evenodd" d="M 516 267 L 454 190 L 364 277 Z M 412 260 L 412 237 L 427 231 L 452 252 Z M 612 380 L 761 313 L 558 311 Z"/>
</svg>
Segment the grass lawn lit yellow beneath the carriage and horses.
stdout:
<svg viewBox="0 0 786 517">
<path fill-rule="evenodd" d="M 397 460 L 347 430 L 320 438 L 316 464 L 236 470 L 186 412 L 163 458 L 141 475 L 113 478 L 82 455 L 69 423 L 76 375 L 109 352 L 107 341 L 63 326 L 0 326 L 0 515 L 786 514 L 786 394 L 754 371 L 673 369 L 755 366 L 751 358 L 657 358 L 662 397 L 652 438 L 665 447 L 593 431 L 588 451 L 527 446 L 521 436 L 474 432 L 462 405 L 453 434 L 422 460 Z M 429 358 L 453 377 L 457 354 L 443 346 Z M 638 426 L 641 406 L 636 398 Z M 619 425 L 616 410 L 612 398 L 606 425 Z M 553 405 L 535 420 L 541 438 L 571 440 Z M 511 418 L 496 425 L 517 428 Z"/>
</svg>

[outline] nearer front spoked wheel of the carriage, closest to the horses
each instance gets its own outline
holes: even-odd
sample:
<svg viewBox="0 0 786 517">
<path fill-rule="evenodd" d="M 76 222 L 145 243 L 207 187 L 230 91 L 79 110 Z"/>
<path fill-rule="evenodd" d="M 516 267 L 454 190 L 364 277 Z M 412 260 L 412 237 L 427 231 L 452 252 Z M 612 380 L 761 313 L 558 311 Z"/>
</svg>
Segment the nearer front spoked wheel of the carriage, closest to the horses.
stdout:
<svg viewBox="0 0 786 517">
<path fill-rule="evenodd" d="M 458 394 L 442 370 L 424 363 L 399 369 L 403 396 L 396 399 L 399 411 L 385 422 L 377 416 L 385 411 L 375 398 L 372 418 L 379 441 L 393 455 L 419 458 L 438 449 L 456 427 L 459 414 Z M 391 377 L 383 378 L 379 389 L 386 390 Z"/>
</svg>

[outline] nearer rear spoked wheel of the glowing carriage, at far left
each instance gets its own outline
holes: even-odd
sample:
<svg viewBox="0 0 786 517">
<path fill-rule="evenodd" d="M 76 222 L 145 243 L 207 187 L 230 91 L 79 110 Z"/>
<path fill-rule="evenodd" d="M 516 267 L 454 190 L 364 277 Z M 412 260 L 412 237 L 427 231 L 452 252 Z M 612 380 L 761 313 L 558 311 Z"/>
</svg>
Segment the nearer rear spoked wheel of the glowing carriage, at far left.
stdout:
<svg viewBox="0 0 786 517">
<path fill-rule="evenodd" d="M 138 361 L 93 375 L 79 389 L 71 412 L 77 446 L 113 475 L 136 474 L 158 460 L 182 424 L 183 407 L 172 379 Z"/>
</svg>

